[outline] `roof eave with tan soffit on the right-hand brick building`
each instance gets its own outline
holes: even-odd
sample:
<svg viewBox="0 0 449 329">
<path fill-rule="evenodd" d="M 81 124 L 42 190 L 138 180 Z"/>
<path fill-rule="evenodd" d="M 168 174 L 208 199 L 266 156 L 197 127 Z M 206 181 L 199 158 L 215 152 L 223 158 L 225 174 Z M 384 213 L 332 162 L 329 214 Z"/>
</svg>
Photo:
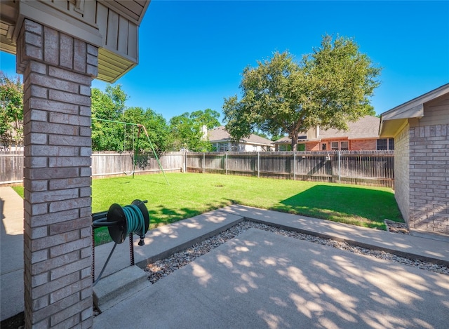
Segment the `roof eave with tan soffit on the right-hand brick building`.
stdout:
<svg viewBox="0 0 449 329">
<path fill-rule="evenodd" d="M 394 137 L 409 119 L 421 119 L 424 116 L 424 104 L 447 93 L 449 93 L 449 83 L 382 113 L 380 137 Z"/>
</svg>

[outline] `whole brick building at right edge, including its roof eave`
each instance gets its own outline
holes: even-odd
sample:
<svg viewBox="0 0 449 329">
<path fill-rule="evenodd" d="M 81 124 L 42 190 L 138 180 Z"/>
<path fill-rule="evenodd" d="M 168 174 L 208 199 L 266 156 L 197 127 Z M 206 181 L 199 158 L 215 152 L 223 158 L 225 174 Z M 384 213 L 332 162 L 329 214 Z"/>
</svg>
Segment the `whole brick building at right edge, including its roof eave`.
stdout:
<svg viewBox="0 0 449 329">
<path fill-rule="evenodd" d="M 449 235 L 449 83 L 381 116 L 394 137 L 394 196 L 410 232 Z"/>
</svg>

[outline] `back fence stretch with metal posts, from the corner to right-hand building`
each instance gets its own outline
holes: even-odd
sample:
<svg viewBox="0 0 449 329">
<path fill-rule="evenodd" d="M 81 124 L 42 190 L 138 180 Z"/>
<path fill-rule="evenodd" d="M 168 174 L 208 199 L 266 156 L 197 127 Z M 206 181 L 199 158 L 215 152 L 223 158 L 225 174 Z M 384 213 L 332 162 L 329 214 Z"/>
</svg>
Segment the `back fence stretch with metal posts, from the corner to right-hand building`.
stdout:
<svg viewBox="0 0 449 329">
<path fill-rule="evenodd" d="M 186 168 L 196 173 L 394 187 L 394 151 L 189 152 Z"/>
</svg>

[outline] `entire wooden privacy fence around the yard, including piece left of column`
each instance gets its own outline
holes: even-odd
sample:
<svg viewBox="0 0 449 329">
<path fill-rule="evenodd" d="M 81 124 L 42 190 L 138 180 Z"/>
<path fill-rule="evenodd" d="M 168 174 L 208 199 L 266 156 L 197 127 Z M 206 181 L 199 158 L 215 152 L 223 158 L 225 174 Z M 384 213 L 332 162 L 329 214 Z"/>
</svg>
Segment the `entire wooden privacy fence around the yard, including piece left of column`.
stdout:
<svg viewBox="0 0 449 329">
<path fill-rule="evenodd" d="M 169 152 L 159 157 L 168 172 L 222 173 L 289 180 L 394 187 L 393 151 Z M 133 154 L 92 154 L 93 177 L 133 173 Z M 159 173 L 152 154 L 139 154 L 134 173 Z M 0 185 L 23 180 L 23 152 L 0 152 Z"/>
</svg>

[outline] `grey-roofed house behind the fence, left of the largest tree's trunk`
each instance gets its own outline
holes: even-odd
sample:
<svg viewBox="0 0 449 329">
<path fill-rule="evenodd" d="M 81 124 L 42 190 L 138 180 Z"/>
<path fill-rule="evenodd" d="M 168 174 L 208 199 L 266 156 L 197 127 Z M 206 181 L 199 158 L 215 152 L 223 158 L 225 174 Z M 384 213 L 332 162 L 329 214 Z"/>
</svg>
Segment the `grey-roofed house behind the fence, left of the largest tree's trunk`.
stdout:
<svg viewBox="0 0 449 329">
<path fill-rule="evenodd" d="M 207 130 L 207 136 L 214 152 L 263 152 L 273 149 L 271 140 L 254 134 L 242 138 L 239 143 L 232 142 L 231 135 L 224 126 Z"/>
</svg>

